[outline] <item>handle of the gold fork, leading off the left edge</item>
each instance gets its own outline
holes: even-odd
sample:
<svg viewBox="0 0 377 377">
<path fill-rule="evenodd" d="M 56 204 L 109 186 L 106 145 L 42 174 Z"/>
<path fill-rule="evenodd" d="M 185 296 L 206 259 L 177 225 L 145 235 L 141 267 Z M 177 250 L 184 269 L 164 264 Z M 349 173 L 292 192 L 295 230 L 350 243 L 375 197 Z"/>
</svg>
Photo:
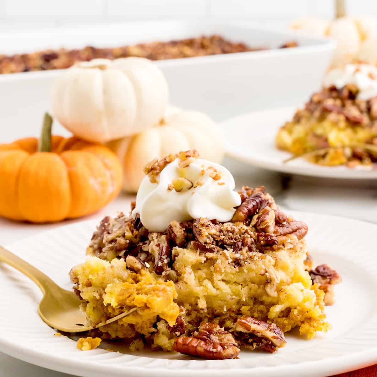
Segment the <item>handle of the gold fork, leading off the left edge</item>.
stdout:
<svg viewBox="0 0 377 377">
<path fill-rule="evenodd" d="M 46 288 L 52 285 L 57 285 L 53 280 L 51 280 L 43 272 L 39 271 L 37 268 L 25 262 L 23 259 L 17 255 L 11 253 L 9 250 L 0 246 L 0 261 L 9 264 L 16 270 L 23 273 L 25 276 L 29 277 L 35 284 L 38 285 L 42 293 L 46 292 Z"/>
</svg>

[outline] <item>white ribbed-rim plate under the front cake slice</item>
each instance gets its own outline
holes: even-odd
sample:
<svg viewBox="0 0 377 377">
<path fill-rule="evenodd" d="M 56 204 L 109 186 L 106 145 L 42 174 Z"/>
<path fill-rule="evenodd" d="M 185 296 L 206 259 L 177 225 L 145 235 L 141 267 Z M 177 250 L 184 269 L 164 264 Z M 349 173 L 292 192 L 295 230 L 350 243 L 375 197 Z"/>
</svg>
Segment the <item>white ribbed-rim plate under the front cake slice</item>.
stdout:
<svg viewBox="0 0 377 377">
<path fill-rule="evenodd" d="M 376 363 L 377 259 L 371 236 L 377 234 L 377 225 L 325 215 L 293 215 L 309 225 L 307 243 L 315 263 L 326 262 L 343 277 L 336 287 L 337 302 L 326 308 L 333 325 L 328 334 L 319 334 L 310 341 L 287 334 L 287 346 L 279 352 L 242 351 L 238 360 L 200 360 L 164 352 L 130 354 L 119 342 L 102 342 L 99 349 L 79 351 L 74 340 L 54 336 L 55 331 L 38 317 L 38 288 L 0 263 L 0 351 L 87 377 L 320 377 Z M 84 259 L 95 225 L 86 221 L 55 228 L 18 241 L 9 250 L 69 289 L 68 271 Z"/>
</svg>

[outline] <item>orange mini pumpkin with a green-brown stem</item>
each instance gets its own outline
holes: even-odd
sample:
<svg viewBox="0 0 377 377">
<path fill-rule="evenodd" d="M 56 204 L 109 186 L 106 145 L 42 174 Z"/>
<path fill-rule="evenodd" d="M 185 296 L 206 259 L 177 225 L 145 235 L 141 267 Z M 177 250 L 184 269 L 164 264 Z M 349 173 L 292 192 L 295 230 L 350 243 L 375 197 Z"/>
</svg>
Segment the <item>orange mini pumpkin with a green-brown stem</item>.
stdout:
<svg viewBox="0 0 377 377">
<path fill-rule="evenodd" d="M 41 138 L 0 145 L 0 216 L 55 222 L 89 215 L 114 199 L 122 168 L 107 147 L 51 137 L 46 114 Z"/>
</svg>

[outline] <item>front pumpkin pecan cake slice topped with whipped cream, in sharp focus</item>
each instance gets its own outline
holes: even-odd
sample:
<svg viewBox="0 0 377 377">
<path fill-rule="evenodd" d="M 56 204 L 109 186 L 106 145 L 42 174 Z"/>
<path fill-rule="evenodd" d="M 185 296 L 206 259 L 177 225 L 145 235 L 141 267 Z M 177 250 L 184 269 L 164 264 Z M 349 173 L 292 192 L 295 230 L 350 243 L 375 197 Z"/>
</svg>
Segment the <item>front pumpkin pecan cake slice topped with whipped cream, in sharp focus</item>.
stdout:
<svg viewBox="0 0 377 377">
<path fill-rule="evenodd" d="M 131 214 L 105 217 L 70 273 L 89 323 L 138 307 L 101 337 L 228 359 L 240 347 L 274 352 L 296 327 L 308 338 L 328 331 L 325 292 L 332 303 L 340 277 L 319 268 L 313 284 L 307 225 L 263 186 L 235 192 L 230 172 L 196 151 L 145 173 Z"/>
</svg>

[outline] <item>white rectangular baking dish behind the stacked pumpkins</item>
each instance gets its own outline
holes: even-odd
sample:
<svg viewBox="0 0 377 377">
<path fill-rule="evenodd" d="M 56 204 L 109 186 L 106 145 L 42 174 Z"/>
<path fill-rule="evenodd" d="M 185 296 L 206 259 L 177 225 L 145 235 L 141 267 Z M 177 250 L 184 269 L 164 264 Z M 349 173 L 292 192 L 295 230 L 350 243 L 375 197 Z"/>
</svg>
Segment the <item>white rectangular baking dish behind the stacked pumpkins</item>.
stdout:
<svg viewBox="0 0 377 377">
<path fill-rule="evenodd" d="M 202 21 L 152 21 L 81 28 L 60 28 L 0 34 L 0 54 L 46 48 L 120 46 L 220 34 L 251 47 L 273 49 L 208 57 L 161 60 L 172 104 L 201 110 L 215 120 L 275 106 L 302 103 L 320 87 L 334 43 L 245 24 Z M 297 48 L 277 49 L 295 40 Z M 1 142 L 38 135 L 49 109 L 51 85 L 60 70 L 0 75 Z M 57 126 L 55 133 L 62 130 Z M 236 132 L 236 130 L 235 130 Z"/>
</svg>

